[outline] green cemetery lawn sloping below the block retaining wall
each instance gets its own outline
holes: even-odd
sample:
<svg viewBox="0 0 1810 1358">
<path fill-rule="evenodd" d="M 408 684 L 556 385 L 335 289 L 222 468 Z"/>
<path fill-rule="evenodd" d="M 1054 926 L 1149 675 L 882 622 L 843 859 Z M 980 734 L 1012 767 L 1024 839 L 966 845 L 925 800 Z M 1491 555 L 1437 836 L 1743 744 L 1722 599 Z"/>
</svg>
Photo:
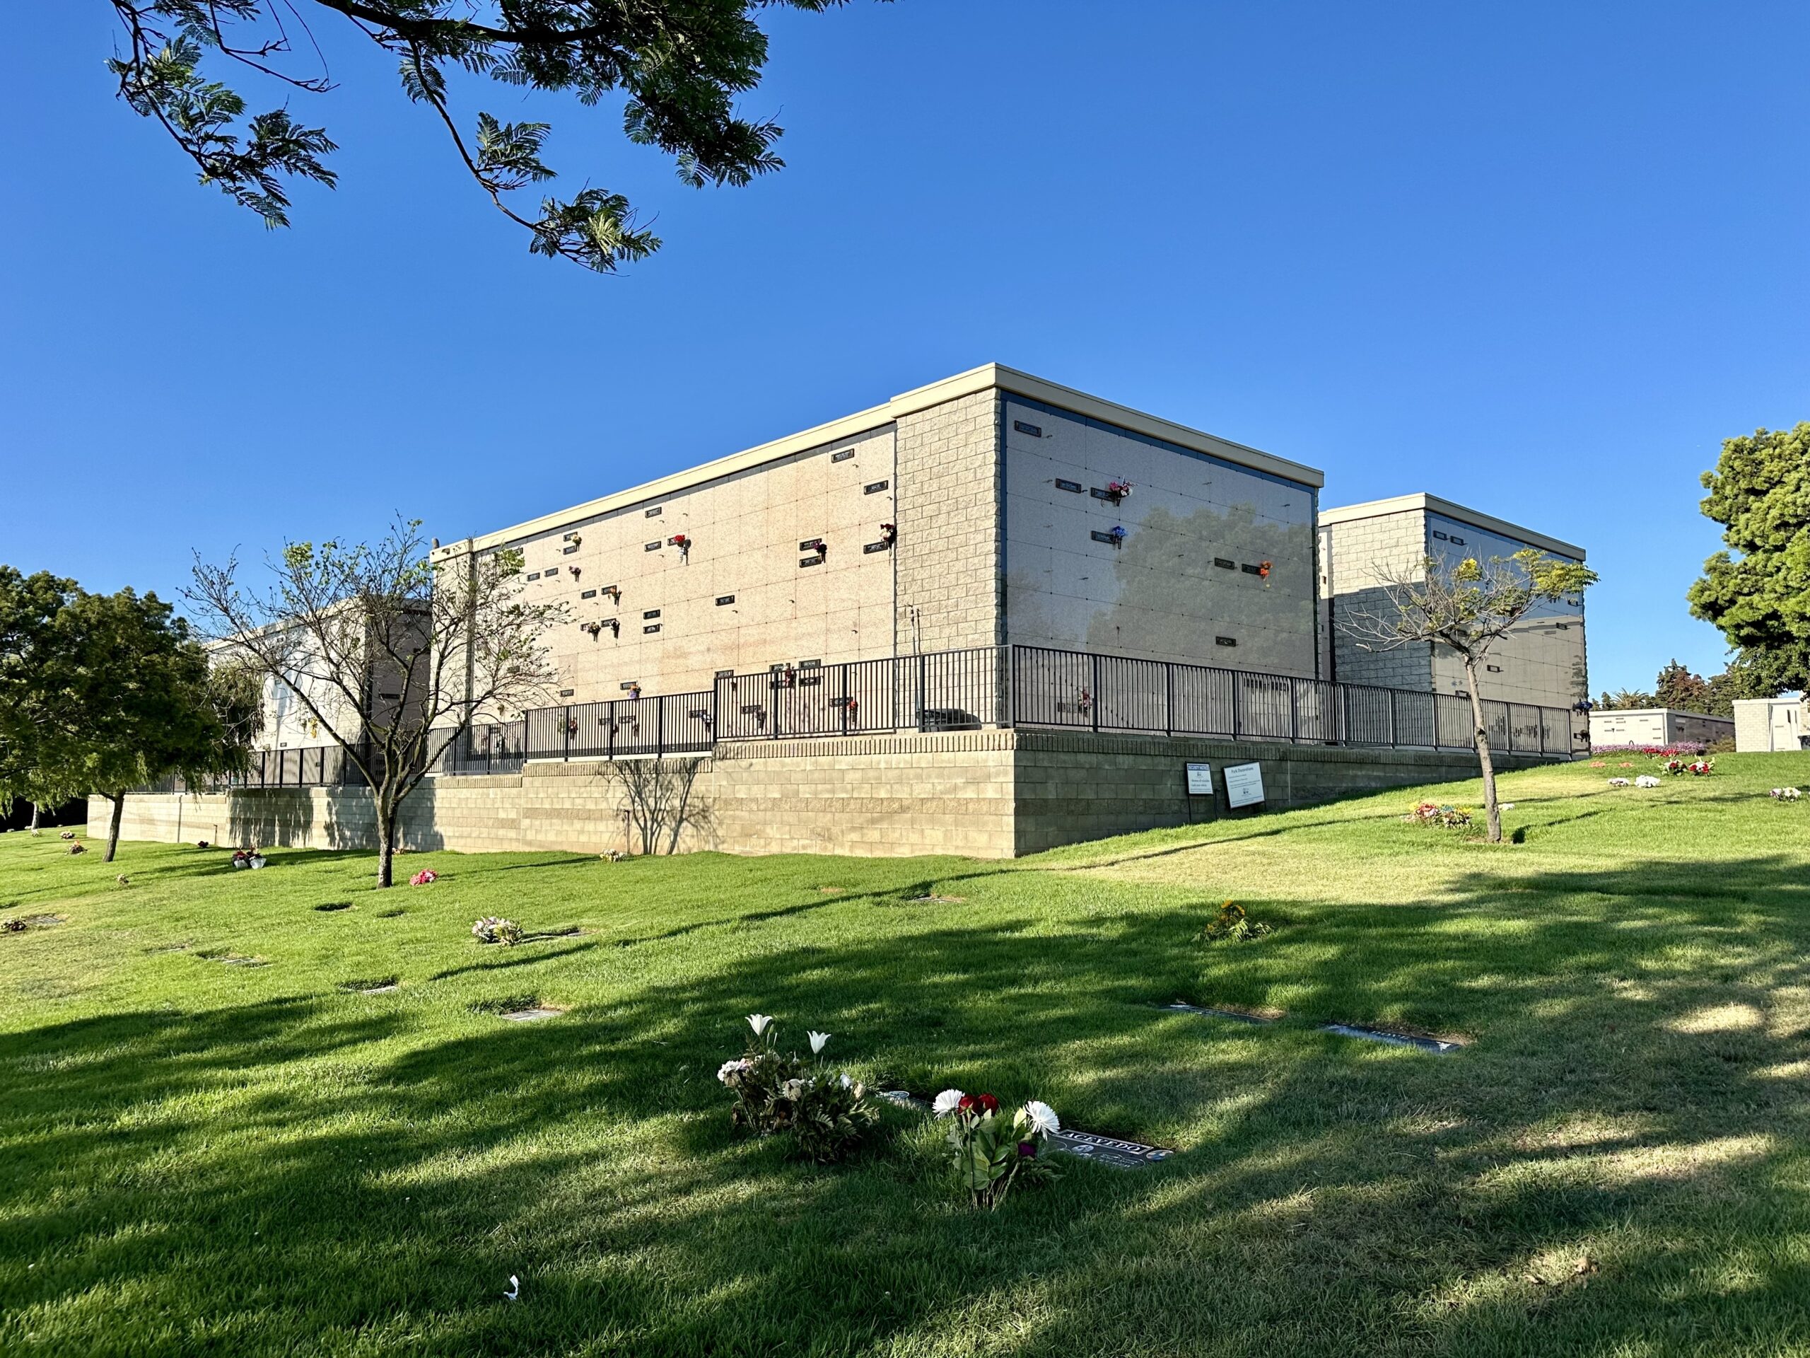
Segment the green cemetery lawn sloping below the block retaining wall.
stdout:
<svg viewBox="0 0 1810 1358">
<path fill-rule="evenodd" d="M 1810 1353 L 1810 800 L 1765 797 L 1810 755 L 1620 762 L 1504 777 L 1515 846 L 1401 791 L 1015 864 L 411 855 L 440 880 L 380 893 L 362 855 L 7 835 L 0 913 L 63 922 L 0 936 L 0 1353 Z M 1225 898 L 1276 932 L 1196 942 Z M 481 947 L 492 913 L 545 936 Z M 485 1012 L 525 998 L 567 1012 Z M 800 1164 L 729 1135 L 751 1010 L 1180 1153 L 996 1215 L 905 1110 Z"/>
</svg>

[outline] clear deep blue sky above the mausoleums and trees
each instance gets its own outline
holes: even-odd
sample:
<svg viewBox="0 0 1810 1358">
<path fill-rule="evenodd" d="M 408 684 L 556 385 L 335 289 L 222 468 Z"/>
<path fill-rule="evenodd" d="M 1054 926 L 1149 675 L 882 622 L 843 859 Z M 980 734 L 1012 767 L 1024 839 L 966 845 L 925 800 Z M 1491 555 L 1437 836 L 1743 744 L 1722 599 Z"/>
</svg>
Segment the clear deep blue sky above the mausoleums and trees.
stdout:
<svg viewBox="0 0 1810 1358">
<path fill-rule="evenodd" d="M 530 257 L 320 14 L 342 150 L 266 232 L 110 91 L 101 0 L 0 49 L 0 561 L 483 532 L 997 360 L 1584 543 L 1593 688 L 1720 668 L 1720 440 L 1810 418 L 1810 5 L 854 0 L 767 14 L 789 167 L 681 186 L 614 109 L 567 181 L 666 248 Z M 246 80 L 253 107 L 279 96 Z"/>
</svg>

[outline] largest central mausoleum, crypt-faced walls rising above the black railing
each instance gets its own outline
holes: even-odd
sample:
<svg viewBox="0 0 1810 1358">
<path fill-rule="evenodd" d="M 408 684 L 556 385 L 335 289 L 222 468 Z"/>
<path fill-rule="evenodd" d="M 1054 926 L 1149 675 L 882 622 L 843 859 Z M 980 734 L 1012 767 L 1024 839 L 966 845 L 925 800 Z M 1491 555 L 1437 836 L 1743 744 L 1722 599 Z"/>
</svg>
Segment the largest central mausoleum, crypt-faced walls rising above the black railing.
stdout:
<svg viewBox="0 0 1810 1358">
<path fill-rule="evenodd" d="M 570 603 L 570 703 L 1001 645 L 1314 677 L 1321 483 L 988 364 L 438 558 Z"/>
</svg>

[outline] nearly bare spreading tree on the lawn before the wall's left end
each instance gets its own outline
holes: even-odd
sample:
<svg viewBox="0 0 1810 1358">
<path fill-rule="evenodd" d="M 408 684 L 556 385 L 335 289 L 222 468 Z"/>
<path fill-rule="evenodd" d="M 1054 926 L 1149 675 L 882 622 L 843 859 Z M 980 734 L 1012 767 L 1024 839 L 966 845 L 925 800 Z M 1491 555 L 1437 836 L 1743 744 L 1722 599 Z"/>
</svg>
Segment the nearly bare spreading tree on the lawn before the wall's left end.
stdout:
<svg viewBox="0 0 1810 1358">
<path fill-rule="evenodd" d="M 215 659 L 288 692 L 371 788 L 376 882 L 393 882 L 402 804 L 483 712 L 545 701 L 541 636 L 561 603 L 521 598 L 521 554 L 429 558 L 418 520 L 376 543 L 288 543 L 248 592 L 239 561 L 195 561 L 190 603 Z"/>
</svg>

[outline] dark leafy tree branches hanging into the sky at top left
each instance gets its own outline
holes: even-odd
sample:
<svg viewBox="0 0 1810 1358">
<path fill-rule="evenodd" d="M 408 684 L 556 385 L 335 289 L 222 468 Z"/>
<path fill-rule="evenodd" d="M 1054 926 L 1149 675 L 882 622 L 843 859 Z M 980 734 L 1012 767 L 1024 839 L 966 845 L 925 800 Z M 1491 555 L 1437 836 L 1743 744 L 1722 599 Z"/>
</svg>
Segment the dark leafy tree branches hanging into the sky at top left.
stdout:
<svg viewBox="0 0 1810 1358">
<path fill-rule="evenodd" d="M 548 123 L 507 123 L 480 112 L 467 130 L 452 112 L 447 76 L 574 94 L 590 109 L 623 100 L 623 132 L 675 159 L 693 188 L 742 186 L 778 170 L 780 127 L 749 120 L 735 100 L 760 83 L 767 36 L 758 9 L 820 13 L 843 0 L 109 0 L 125 45 L 109 62 L 119 98 L 163 130 L 201 170 L 268 226 L 290 225 L 288 185 L 335 186 L 324 129 L 288 109 L 246 118 L 246 101 L 203 72 L 235 65 L 284 96 L 335 85 L 308 13 L 351 24 L 396 60 L 404 94 L 445 127 L 465 172 L 530 235 L 534 253 L 597 272 L 644 259 L 661 241 L 637 225 L 628 199 L 585 186 L 547 196 L 538 210 L 516 194 L 556 172 L 541 159 Z M 297 40 L 306 38 L 306 43 Z M 306 45 L 306 53 L 300 51 Z M 304 65 L 306 63 L 306 65 Z"/>
</svg>

